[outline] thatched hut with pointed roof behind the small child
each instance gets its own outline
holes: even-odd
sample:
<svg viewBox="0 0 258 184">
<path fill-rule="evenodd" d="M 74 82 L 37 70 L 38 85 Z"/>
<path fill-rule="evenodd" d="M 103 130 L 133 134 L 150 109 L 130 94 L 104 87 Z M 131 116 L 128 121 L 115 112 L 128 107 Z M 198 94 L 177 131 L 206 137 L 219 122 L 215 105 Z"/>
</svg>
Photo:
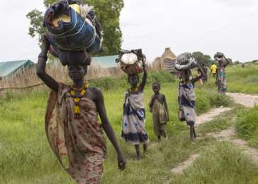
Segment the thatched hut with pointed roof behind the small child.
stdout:
<svg viewBox="0 0 258 184">
<path fill-rule="evenodd" d="M 175 62 L 176 55 L 172 52 L 172 50 L 169 47 L 167 47 L 162 56 L 157 57 L 152 65 L 155 69 L 164 69 L 169 71 L 170 73 L 175 73 Z"/>
</svg>

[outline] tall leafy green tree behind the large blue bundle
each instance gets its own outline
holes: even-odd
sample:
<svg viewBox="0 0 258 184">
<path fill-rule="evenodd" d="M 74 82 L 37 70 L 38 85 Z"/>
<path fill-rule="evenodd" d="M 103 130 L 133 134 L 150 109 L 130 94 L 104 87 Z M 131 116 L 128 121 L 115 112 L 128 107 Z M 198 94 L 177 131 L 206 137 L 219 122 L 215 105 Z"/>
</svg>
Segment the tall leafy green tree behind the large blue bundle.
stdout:
<svg viewBox="0 0 258 184">
<path fill-rule="evenodd" d="M 120 11 L 124 3 L 123 0 L 81 0 L 87 4 L 94 6 L 96 17 L 99 19 L 103 30 L 103 52 L 99 55 L 113 55 L 118 54 L 122 44 L 122 32 L 120 30 Z M 45 7 L 55 4 L 57 0 L 44 0 Z M 27 15 L 30 19 L 29 35 L 35 37 L 39 36 L 38 42 L 40 45 L 40 35 L 47 33 L 43 28 L 43 12 L 34 9 Z"/>
</svg>

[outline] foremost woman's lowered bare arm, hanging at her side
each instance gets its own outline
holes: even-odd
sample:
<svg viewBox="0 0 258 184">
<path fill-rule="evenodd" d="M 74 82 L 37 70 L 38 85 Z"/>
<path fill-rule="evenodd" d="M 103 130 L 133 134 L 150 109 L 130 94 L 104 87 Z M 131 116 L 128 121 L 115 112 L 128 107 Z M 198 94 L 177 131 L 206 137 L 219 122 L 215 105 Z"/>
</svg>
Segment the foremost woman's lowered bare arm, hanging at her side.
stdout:
<svg viewBox="0 0 258 184">
<path fill-rule="evenodd" d="M 106 132 L 108 139 L 111 141 L 118 154 L 118 168 L 120 168 L 120 170 L 123 170 L 125 169 L 125 159 L 123 157 L 122 151 L 120 150 L 120 146 L 118 145 L 118 142 L 116 140 L 113 128 L 111 127 L 108 121 L 108 117 L 106 115 L 106 108 L 103 100 L 103 94 L 100 89 L 94 89 L 94 93 L 96 94 L 95 103 L 99 113 L 99 117 L 101 118 L 103 130 Z"/>
</svg>

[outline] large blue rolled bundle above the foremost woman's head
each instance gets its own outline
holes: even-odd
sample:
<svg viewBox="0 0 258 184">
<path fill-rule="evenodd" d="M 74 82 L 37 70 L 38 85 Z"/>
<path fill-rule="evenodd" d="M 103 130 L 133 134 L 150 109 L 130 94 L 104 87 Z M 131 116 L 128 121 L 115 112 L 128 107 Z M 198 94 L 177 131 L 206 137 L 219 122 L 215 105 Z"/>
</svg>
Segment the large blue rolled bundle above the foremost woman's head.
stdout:
<svg viewBox="0 0 258 184">
<path fill-rule="evenodd" d="M 50 53 L 55 57 L 59 57 L 61 50 L 101 50 L 101 25 L 93 8 L 86 4 L 62 0 L 47 9 L 43 25 L 49 33 Z"/>
</svg>

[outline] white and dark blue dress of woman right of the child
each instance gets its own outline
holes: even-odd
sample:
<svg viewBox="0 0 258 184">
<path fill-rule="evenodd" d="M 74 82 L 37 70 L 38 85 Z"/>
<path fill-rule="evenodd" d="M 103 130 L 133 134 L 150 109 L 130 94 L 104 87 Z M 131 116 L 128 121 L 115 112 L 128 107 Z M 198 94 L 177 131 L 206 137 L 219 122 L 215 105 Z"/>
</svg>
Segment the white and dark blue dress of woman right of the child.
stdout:
<svg viewBox="0 0 258 184">
<path fill-rule="evenodd" d="M 194 93 L 194 84 L 179 83 L 179 107 L 184 112 L 186 122 L 196 122 L 196 95 Z"/>
</svg>

